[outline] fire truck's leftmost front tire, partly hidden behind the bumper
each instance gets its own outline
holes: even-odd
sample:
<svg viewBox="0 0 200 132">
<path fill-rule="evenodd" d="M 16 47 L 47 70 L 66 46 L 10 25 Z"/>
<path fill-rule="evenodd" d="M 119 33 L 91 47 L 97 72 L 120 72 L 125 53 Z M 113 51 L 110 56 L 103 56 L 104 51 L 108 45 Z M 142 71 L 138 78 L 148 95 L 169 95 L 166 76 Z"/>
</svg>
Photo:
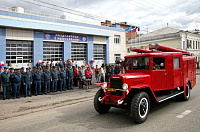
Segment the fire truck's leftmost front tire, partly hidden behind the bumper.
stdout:
<svg viewBox="0 0 200 132">
<path fill-rule="evenodd" d="M 105 105 L 99 101 L 99 97 L 103 98 L 103 96 L 105 96 L 103 90 L 99 89 L 94 97 L 94 108 L 100 114 L 105 114 L 110 110 L 110 106 Z"/>
</svg>

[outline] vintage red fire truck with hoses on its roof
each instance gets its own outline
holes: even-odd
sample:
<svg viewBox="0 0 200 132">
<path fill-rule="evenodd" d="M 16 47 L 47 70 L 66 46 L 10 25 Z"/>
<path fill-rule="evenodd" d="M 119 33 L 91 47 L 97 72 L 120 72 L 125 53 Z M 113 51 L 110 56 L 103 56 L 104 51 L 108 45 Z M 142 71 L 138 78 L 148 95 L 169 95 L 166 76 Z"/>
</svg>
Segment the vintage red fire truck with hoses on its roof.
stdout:
<svg viewBox="0 0 200 132">
<path fill-rule="evenodd" d="M 111 76 L 108 83 L 96 83 L 101 86 L 94 97 L 98 113 L 107 113 L 111 107 L 129 108 L 134 121 L 142 123 L 148 117 L 150 101 L 189 100 L 196 85 L 193 55 L 160 44 L 132 51 L 138 54 L 125 56 L 125 73 Z"/>
</svg>

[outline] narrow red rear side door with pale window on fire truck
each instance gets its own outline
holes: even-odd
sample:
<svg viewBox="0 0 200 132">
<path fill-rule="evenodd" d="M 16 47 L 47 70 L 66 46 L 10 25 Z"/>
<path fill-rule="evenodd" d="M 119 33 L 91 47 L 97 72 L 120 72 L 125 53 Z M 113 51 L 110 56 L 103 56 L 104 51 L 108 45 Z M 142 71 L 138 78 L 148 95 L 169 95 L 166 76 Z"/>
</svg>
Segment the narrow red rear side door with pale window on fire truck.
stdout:
<svg viewBox="0 0 200 132">
<path fill-rule="evenodd" d="M 179 57 L 173 58 L 174 88 L 183 86 L 182 61 Z"/>
</svg>

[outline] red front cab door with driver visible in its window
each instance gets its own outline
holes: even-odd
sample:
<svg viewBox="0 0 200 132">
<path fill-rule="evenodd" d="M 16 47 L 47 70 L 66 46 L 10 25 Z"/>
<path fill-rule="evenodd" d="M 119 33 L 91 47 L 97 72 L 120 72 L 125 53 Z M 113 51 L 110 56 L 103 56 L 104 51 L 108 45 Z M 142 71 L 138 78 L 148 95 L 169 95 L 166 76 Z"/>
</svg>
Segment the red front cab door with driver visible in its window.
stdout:
<svg viewBox="0 0 200 132">
<path fill-rule="evenodd" d="M 153 57 L 151 76 L 153 91 L 166 90 L 167 88 L 167 70 L 165 64 L 165 57 Z"/>
</svg>

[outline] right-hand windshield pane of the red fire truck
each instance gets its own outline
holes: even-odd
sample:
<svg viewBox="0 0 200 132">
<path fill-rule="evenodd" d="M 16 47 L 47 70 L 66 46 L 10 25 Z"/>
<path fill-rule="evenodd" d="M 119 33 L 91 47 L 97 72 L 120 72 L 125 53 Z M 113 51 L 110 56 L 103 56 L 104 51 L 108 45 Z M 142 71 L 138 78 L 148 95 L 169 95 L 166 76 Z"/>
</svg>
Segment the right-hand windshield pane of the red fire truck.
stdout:
<svg viewBox="0 0 200 132">
<path fill-rule="evenodd" d="M 149 57 L 133 58 L 133 70 L 148 70 Z"/>
</svg>

